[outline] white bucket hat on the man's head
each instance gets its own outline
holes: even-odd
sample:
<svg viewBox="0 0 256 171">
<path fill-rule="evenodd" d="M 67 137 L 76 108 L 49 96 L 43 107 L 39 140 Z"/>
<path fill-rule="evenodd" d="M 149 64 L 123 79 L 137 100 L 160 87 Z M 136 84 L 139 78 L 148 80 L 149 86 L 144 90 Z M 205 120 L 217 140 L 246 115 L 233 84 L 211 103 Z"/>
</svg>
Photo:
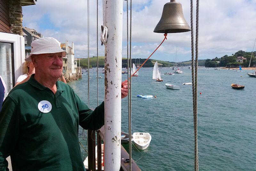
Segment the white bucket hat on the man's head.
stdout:
<svg viewBox="0 0 256 171">
<path fill-rule="evenodd" d="M 44 37 L 34 40 L 31 43 L 31 53 L 25 58 L 25 61 L 31 61 L 31 55 L 45 54 L 45 53 L 60 53 L 65 57 L 67 52 L 60 48 L 60 42 L 52 37 Z"/>
</svg>

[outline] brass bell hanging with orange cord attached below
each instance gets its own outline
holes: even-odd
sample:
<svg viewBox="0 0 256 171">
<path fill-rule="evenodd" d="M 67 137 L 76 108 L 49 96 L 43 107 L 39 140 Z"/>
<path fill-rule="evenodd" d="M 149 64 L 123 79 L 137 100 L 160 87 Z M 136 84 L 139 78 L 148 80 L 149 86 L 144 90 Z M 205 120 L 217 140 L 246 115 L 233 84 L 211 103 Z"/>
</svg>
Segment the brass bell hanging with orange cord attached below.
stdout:
<svg viewBox="0 0 256 171">
<path fill-rule="evenodd" d="M 155 33 L 181 33 L 190 31 L 187 21 L 184 18 L 182 5 L 175 0 L 171 0 L 164 5 L 162 17 L 156 28 Z"/>
</svg>

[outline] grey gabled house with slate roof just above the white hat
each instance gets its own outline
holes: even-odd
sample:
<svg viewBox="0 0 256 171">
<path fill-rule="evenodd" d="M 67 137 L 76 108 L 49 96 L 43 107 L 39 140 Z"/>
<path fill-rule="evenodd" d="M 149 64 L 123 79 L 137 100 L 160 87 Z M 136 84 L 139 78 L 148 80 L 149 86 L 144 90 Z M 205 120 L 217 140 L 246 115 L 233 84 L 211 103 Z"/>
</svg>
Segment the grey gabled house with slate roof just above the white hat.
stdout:
<svg viewBox="0 0 256 171">
<path fill-rule="evenodd" d="M 43 38 L 44 35 L 37 32 L 35 29 L 30 29 L 28 27 L 22 27 L 22 31 L 25 39 L 25 57 L 27 57 L 31 52 L 32 41 Z"/>
</svg>

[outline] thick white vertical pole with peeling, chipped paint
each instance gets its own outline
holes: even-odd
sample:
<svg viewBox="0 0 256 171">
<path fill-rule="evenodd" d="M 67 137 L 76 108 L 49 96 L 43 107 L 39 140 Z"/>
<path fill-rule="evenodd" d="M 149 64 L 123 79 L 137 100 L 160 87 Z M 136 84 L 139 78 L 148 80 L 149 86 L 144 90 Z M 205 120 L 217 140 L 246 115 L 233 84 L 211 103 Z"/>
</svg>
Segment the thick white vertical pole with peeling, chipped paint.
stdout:
<svg viewBox="0 0 256 171">
<path fill-rule="evenodd" d="M 121 83 L 123 1 L 106 1 L 104 170 L 121 166 Z"/>
</svg>

